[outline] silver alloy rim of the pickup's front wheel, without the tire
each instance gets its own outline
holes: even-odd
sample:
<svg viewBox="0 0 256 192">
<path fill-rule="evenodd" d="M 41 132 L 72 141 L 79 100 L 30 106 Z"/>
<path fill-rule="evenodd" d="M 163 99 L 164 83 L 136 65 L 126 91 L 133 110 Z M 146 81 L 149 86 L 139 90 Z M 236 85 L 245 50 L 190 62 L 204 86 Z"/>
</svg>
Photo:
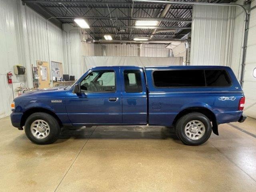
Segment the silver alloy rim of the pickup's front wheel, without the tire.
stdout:
<svg viewBox="0 0 256 192">
<path fill-rule="evenodd" d="M 30 126 L 30 131 L 34 137 L 44 139 L 50 133 L 50 126 L 44 120 L 35 120 Z"/>
</svg>

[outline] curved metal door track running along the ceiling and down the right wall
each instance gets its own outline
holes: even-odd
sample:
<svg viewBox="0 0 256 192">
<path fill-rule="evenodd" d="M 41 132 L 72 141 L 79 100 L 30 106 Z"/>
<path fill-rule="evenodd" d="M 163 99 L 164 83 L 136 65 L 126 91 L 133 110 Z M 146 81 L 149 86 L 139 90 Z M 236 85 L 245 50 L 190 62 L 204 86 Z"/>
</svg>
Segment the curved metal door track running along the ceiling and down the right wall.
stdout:
<svg viewBox="0 0 256 192">
<path fill-rule="evenodd" d="M 157 4 L 180 4 L 180 5 L 210 5 L 210 6 L 237 6 L 242 8 L 244 11 L 244 46 L 243 46 L 243 53 L 242 53 L 242 68 L 241 68 L 241 77 L 240 77 L 240 84 L 243 85 L 243 78 L 244 78 L 244 66 L 245 66 L 245 58 L 246 58 L 246 46 L 248 40 L 248 28 L 249 28 L 249 18 L 250 13 L 247 13 L 246 9 L 240 4 L 229 4 L 229 3 L 204 3 L 204 2 L 170 2 L 170 1 L 158 1 L 158 0 L 133 0 L 134 2 L 147 2 L 147 3 L 157 3 Z"/>
</svg>

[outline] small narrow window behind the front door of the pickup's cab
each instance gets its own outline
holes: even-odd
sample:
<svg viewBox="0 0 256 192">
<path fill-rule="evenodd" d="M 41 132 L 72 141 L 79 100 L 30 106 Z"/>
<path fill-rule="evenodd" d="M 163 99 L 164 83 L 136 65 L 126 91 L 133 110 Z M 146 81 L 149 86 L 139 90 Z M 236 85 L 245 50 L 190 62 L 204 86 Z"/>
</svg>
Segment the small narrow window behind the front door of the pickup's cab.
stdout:
<svg viewBox="0 0 256 192">
<path fill-rule="evenodd" d="M 124 88 L 126 93 L 142 92 L 140 70 L 124 70 Z"/>
</svg>

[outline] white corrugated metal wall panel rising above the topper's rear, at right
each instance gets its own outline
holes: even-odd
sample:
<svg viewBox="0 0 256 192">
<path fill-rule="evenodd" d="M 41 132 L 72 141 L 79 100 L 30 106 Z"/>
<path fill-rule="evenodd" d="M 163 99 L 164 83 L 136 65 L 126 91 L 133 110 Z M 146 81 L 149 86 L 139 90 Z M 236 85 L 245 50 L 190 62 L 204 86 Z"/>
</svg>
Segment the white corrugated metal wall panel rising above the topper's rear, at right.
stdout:
<svg viewBox="0 0 256 192">
<path fill-rule="evenodd" d="M 230 66 L 234 10 L 228 6 L 193 7 L 191 65 Z"/>
</svg>

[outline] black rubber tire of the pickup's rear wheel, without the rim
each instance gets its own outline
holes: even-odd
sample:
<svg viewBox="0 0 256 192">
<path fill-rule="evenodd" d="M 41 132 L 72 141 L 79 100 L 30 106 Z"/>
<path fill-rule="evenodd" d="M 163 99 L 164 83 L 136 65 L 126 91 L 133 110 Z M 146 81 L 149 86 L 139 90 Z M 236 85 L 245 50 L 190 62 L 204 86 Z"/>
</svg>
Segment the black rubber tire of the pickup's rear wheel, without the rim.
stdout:
<svg viewBox="0 0 256 192">
<path fill-rule="evenodd" d="M 198 139 L 189 138 L 190 133 L 191 133 L 191 132 L 188 133 L 189 129 L 186 129 L 187 133 L 185 133 L 186 125 L 191 121 L 196 121 L 196 123 L 198 123 L 197 121 L 202 122 L 202 124 L 204 126 L 204 128 L 202 128 L 202 129 L 204 129 L 205 131 L 204 131 L 204 134 L 201 133 L 202 134 L 201 138 L 198 138 Z M 200 125 L 200 123 L 198 123 L 198 124 Z M 196 127 L 196 130 L 198 130 L 197 127 Z M 200 130 L 198 130 L 198 132 L 200 132 Z M 186 145 L 193 146 L 193 145 L 203 144 L 210 138 L 211 134 L 212 134 L 212 124 L 211 124 L 209 118 L 202 113 L 192 112 L 192 113 L 186 114 L 186 115 L 182 116 L 180 119 L 178 119 L 178 121 L 176 122 L 176 135 L 182 141 L 182 143 L 184 143 Z M 191 135 L 194 136 L 194 133 L 191 133 Z M 195 134 L 195 135 L 198 136 L 197 134 Z M 200 136 L 198 136 L 198 137 L 200 137 Z"/>
</svg>

